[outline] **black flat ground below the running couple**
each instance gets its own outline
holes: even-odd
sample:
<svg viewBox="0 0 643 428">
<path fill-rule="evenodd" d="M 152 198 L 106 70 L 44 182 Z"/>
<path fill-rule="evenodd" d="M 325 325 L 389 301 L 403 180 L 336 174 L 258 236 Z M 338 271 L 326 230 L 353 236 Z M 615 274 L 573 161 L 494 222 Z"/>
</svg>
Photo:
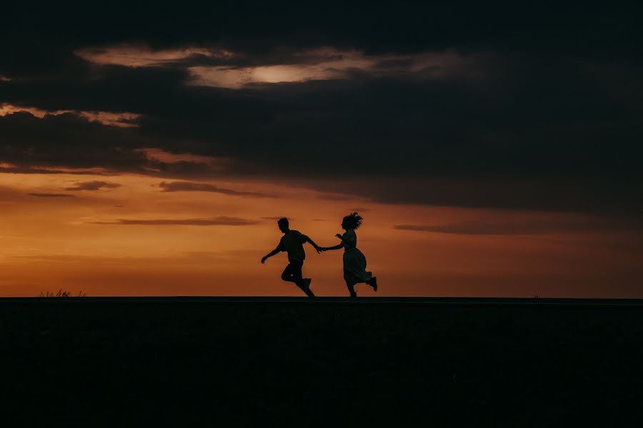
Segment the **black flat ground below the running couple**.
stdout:
<svg viewBox="0 0 643 428">
<path fill-rule="evenodd" d="M 0 299 L 0 346 L 6 427 L 643 422 L 641 301 Z"/>
</svg>

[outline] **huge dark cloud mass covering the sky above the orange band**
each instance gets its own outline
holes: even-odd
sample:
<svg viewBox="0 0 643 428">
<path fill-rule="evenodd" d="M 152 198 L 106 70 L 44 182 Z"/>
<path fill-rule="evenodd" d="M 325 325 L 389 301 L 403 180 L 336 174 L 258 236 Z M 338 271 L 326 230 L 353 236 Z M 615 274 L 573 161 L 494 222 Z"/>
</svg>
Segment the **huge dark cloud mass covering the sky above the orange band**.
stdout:
<svg viewBox="0 0 643 428">
<path fill-rule="evenodd" d="M 133 4 L 86 19 L 91 6 L 9 5 L 0 102 L 142 116 L 136 128 L 74 113 L 0 117 L 0 162 L 11 164 L 0 168 L 254 176 L 384 203 L 641 210 L 639 6 L 522 7 Z M 114 46 L 160 59 L 81 57 Z M 350 52 L 356 66 L 323 66 Z M 189 84 L 192 66 L 273 65 L 319 66 L 307 76 L 325 80 Z M 229 163 L 166 163 L 140 148 Z"/>
</svg>

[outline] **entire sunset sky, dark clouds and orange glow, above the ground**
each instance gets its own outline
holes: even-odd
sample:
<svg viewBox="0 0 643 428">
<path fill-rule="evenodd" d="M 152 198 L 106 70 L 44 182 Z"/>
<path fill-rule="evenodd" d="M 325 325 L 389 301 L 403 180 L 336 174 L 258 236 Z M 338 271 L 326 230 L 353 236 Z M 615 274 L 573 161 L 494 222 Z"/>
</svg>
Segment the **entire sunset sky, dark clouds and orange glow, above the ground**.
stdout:
<svg viewBox="0 0 643 428">
<path fill-rule="evenodd" d="M 303 296 L 358 211 L 377 295 L 643 298 L 640 11 L 128 7 L 3 6 L 0 296 Z"/>
</svg>

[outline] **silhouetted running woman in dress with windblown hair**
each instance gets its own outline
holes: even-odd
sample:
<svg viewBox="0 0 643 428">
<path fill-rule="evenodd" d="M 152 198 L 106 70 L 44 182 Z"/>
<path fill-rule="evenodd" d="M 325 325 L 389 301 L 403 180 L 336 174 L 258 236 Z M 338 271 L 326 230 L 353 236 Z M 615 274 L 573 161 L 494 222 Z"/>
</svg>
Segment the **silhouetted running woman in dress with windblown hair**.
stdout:
<svg viewBox="0 0 643 428">
<path fill-rule="evenodd" d="M 339 250 L 344 248 L 344 281 L 351 293 L 351 297 L 357 297 L 355 285 L 359 282 L 366 282 L 377 291 L 377 277 L 372 272 L 366 270 L 366 258 L 362 251 L 357 249 L 357 233 L 355 229 L 362 225 L 362 216 L 357 213 L 350 213 L 342 220 L 342 229 L 346 230 L 344 235 L 335 236 L 342 240 L 341 243 L 334 247 L 321 247 L 319 250 Z"/>
</svg>

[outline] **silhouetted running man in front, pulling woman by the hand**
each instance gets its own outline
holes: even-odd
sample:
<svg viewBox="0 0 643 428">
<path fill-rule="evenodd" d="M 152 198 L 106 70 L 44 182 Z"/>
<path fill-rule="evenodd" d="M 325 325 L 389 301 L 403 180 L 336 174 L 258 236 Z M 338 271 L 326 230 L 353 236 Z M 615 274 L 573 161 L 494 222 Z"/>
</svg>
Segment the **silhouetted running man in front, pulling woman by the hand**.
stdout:
<svg viewBox="0 0 643 428">
<path fill-rule="evenodd" d="M 267 258 L 271 258 L 273 255 L 281 253 L 281 251 L 286 251 L 288 253 L 289 263 L 281 274 L 281 279 L 294 282 L 308 297 L 315 297 L 310 289 L 310 282 L 312 280 L 311 278 L 302 277 L 301 267 L 304 266 L 304 260 L 306 259 L 304 243 L 310 243 L 315 250 L 317 250 L 317 253 L 320 253 L 319 246 L 298 230 L 290 230 L 287 218 L 280 218 L 277 221 L 277 225 L 279 226 L 279 230 L 284 233 L 284 236 L 281 237 L 279 245 L 277 245 L 274 250 L 261 258 L 261 263 L 266 263 Z"/>
</svg>

